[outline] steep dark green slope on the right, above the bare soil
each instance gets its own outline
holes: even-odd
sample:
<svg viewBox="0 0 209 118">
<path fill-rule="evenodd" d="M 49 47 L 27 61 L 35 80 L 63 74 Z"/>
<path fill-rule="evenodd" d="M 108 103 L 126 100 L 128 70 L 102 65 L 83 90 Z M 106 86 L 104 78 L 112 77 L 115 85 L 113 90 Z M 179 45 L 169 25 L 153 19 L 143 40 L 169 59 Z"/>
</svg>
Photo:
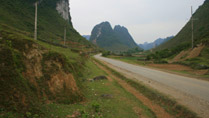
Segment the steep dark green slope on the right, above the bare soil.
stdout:
<svg viewBox="0 0 209 118">
<path fill-rule="evenodd" d="M 209 0 L 206 0 L 202 6 L 193 14 L 194 21 L 194 44 L 209 42 Z M 178 45 L 187 45 L 191 47 L 191 20 L 181 29 L 181 31 L 170 41 L 157 47 L 156 50 L 173 48 Z"/>
</svg>

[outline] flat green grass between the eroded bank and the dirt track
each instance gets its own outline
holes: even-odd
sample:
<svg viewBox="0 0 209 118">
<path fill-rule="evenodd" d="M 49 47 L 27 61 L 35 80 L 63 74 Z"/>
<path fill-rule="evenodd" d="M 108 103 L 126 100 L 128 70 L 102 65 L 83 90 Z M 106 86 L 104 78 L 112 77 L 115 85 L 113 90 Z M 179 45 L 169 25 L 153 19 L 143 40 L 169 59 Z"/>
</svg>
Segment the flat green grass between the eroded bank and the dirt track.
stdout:
<svg viewBox="0 0 209 118">
<path fill-rule="evenodd" d="M 44 105 L 42 109 L 46 111 L 46 118 L 63 118 L 72 115 L 75 111 L 83 113 L 82 118 L 138 118 L 139 116 L 133 110 L 136 106 L 141 109 L 143 116 L 156 117 L 149 108 L 144 106 L 132 94 L 126 92 L 117 82 L 108 80 L 87 81 L 95 76 L 106 75 L 92 61 L 86 63 L 84 73 L 85 102 L 71 105 Z M 103 94 L 109 94 L 113 97 L 103 98 L 101 97 Z M 98 107 L 96 108 L 97 112 L 94 106 Z"/>
</svg>

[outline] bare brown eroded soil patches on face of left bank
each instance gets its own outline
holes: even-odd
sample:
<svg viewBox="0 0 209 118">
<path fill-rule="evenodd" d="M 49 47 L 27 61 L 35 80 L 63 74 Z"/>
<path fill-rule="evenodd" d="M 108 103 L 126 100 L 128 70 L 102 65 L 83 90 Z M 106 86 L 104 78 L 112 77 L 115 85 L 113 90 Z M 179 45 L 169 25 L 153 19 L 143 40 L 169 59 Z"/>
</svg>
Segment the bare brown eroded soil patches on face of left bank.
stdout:
<svg viewBox="0 0 209 118">
<path fill-rule="evenodd" d="M 58 60 L 47 60 L 43 62 L 43 55 L 48 53 L 48 50 L 42 49 L 38 44 L 33 44 L 31 47 L 25 45 L 25 47 L 27 52 L 23 52 L 23 55 L 25 57 L 24 64 L 26 71 L 22 74 L 36 87 L 39 99 L 49 97 L 48 94 L 45 93 L 45 90 L 42 90 L 43 87 L 40 87 L 40 83 L 38 83 L 38 81 L 43 81 L 42 77 L 46 71 L 49 72 L 47 73 L 49 77 L 48 80 L 43 82 L 48 85 L 47 88 L 54 96 L 66 89 L 70 90 L 71 94 L 80 94 L 73 74 L 63 70 L 62 62 Z M 45 72 L 43 71 L 43 65 Z M 56 70 L 51 71 L 54 69 Z"/>
</svg>

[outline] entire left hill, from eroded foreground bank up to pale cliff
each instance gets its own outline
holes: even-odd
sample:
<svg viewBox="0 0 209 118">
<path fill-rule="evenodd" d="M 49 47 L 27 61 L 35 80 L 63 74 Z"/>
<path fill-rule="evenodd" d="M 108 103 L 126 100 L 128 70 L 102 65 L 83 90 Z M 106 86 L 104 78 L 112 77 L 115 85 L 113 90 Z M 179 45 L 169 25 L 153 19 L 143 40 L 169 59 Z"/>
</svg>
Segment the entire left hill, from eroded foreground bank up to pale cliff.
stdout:
<svg viewBox="0 0 209 118">
<path fill-rule="evenodd" d="M 35 41 L 34 2 L 0 0 L 0 117 L 44 118 L 42 105 L 84 98 L 80 78 L 85 61 L 72 48 L 92 45 L 73 28 L 68 0 L 39 4 Z M 64 25 L 68 48 L 62 41 Z"/>
</svg>

